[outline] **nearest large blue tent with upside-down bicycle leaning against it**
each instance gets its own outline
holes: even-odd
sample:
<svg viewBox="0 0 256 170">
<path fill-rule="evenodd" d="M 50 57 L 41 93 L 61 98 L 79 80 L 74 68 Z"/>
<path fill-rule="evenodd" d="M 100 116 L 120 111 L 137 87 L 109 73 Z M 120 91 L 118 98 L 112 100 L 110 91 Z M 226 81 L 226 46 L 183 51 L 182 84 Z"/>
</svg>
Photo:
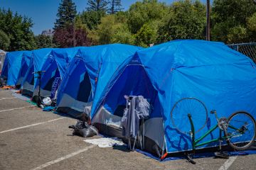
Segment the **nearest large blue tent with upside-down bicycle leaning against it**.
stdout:
<svg viewBox="0 0 256 170">
<path fill-rule="evenodd" d="M 111 67 L 108 65 L 105 70 Z M 98 79 L 104 81 L 104 74 Z M 145 121 L 145 149 L 159 156 L 192 149 L 189 132 L 178 132 L 171 121 L 171 109 L 181 98 L 198 98 L 209 111 L 215 109 L 219 117 L 240 110 L 256 116 L 256 65 L 222 42 L 175 40 L 139 50 L 106 82 L 95 93 L 92 123 L 100 132 L 122 137 L 119 127 L 126 103 L 124 95 L 144 96 L 153 106 L 150 118 Z M 188 118 L 182 116 L 174 115 L 176 125 L 191 130 Z M 198 111 L 195 117 L 196 129 L 207 120 L 196 138 L 216 124 L 214 115 L 203 119 L 204 111 Z M 202 142 L 218 135 L 215 130 Z M 201 148 L 216 145 L 213 142 Z"/>
</svg>

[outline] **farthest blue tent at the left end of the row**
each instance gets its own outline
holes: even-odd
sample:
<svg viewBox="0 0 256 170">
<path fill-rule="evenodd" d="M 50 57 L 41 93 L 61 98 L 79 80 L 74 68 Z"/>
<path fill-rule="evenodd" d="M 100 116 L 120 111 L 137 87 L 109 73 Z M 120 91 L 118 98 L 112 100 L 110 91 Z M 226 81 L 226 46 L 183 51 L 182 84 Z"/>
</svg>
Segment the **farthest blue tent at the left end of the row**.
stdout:
<svg viewBox="0 0 256 170">
<path fill-rule="evenodd" d="M 7 85 L 15 86 L 18 82 L 18 72 L 21 70 L 22 54 L 24 51 L 7 52 L 1 77 L 7 78 Z"/>
</svg>

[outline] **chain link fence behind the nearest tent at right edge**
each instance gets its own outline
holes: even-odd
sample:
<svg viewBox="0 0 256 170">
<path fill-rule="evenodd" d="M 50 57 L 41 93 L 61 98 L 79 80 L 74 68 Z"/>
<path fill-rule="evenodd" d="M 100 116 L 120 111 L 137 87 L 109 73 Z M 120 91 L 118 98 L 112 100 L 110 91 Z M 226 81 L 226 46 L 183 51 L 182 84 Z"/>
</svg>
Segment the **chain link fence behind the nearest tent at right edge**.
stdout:
<svg viewBox="0 0 256 170">
<path fill-rule="evenodd" d="M 256 63 L 256 42 L 232 44 L 228 47 L 250 57 Z"/>
</svg>

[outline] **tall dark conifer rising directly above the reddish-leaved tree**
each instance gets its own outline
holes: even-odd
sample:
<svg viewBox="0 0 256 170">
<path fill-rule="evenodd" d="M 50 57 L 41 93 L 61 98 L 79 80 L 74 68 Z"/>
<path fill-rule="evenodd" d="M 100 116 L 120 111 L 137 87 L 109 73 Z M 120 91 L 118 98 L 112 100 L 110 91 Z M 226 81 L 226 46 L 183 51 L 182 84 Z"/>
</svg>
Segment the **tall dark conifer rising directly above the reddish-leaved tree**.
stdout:
<svg viewBox="0 0 256 170">
<path fill-rule="evenodd" d="M 67 23 L 73 23 L 76 13 L 76 6 L 72 0 L 61 0 L 57 13 L 58 18 L 54 23 L 54 30 L 67 26 Z"/>
</svg>

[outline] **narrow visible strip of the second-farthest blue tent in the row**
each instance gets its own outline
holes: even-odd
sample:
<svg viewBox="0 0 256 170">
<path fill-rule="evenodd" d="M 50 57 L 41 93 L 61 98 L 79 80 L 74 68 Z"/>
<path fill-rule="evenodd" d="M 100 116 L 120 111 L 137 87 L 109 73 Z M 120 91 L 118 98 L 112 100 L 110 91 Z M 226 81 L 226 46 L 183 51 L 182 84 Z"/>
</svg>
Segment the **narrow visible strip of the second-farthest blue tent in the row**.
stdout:
<svg viewBox="0 0 256 170">
<path fill-rule="evenodd" d="M 32 58 L 31 51 L 23 52 L 22 60 L 21 60 L 21 70 L 18 73 L 18 81 L 17 81 L 16 86 L 22 85 L 23 79 L 26 76 L 26 72 L 28 71 L 28 67 L 29 67 L 31 58 Z"/>
</svg>

